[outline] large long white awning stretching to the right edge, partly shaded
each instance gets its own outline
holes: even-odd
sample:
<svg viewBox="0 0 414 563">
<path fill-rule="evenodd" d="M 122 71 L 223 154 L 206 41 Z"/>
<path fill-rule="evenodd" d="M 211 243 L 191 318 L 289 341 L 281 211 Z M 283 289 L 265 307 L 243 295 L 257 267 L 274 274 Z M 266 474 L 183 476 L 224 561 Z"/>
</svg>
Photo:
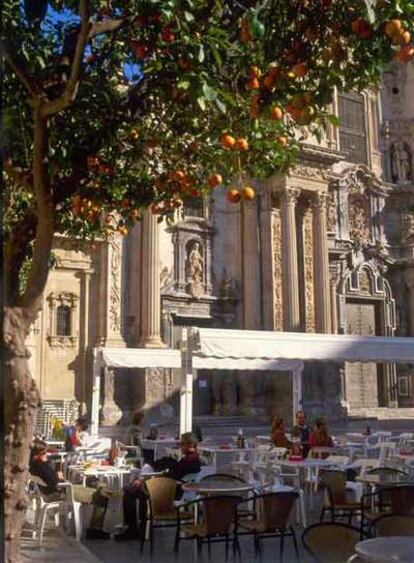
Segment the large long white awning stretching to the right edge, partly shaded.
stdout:
<svg viewBox="0 0 414 563">
<path fill-rule="evenodd" d="M 243 369 L 266 360 L 414 363 L 414 338 L 196 328 L 192 339 L 194 365 L 215 358 L 218 369 L 236 359 L 251 366 Z"/>
</svg>

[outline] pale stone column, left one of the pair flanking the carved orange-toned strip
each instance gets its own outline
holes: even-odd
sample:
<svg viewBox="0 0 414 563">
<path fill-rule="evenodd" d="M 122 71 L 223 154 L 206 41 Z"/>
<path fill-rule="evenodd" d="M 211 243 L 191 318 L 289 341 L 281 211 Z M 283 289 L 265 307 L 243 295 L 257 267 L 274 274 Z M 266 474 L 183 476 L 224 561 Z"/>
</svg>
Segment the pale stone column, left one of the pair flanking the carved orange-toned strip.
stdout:
<svg viewBox="0 0 414 563">
<path fill-rule="evenodd" d="M 299 275 L 296 240 L 296 202 L 300 190 L 286 188 L 282 192 L 282 293 L 283 327 L 286 331 L 300 330 Z"/>
</svg>

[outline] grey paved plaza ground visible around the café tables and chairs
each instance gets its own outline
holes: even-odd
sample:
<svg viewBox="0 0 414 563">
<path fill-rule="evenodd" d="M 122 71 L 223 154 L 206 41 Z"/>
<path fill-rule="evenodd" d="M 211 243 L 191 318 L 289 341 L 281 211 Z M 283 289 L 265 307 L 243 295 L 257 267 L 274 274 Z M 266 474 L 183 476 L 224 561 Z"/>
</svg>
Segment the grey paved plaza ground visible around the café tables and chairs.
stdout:
<svg viewBox="0 0 414 563">
<path fill-rule="evenodd" d="M 201 421 L 202 422 L 202 421 Z M 414 431 L 414 420 L 354 420 L 349 421 L 345 425 L 332 425 L 332 432 L 341 433 L 345 431 L 362 431 L 369 423 L 371 430 L 390 430 L 393 432 Z M 234 435 L 237 432 L 238 421 L 232 419 L 226 420 L 206 420 L 205 424 L 201 424 L 204 435 Z M 268 424 L 265 423 L 252 423 L 244 422 L 243 428 L 246 436 L 254 436 L 256 434 L 266 434 L 269 431 Z M 124 427 L 107 427 L 101 428 L 100 433 L 106 436 L 121 436 L 125 432 Z M 175 432 L 175 425 L 164 425 L 163 432 Z M 320 503 L 319 499 L 319 503 Z M 315 505 L 315 510 L 308 512 L 308 524 L 318 521 L 319 519 L 318 501 Z M 309 563 L 311 558 L 304 552 L 301 542 L 302 528 L 296 526 L 298 543 L 301 552 L 301 561 Z M 25 532 L 23 538 L 23 554 L 24 562 L 58 562 L 58 563 L 135 563 L 140 561 L 142 563 L 204 563 L 209 561 L 207 546 L 203 548 L 201 557 L 197 558 L 193 542 L 182 542 L 180 554 L 178 558 L 173 553 L 174 543 L 174 530 L 156 530 L 155 532 L 155 547 L 153 557 L 149 553 L 149 546 L 145 545 L 144 551 L 141 554 L 139 541 L 131 541 L 125 543 L 117 543 L 113 539 L 110 540 L 94 540 L 84 541 L 79 544 L 74 538 L 68 537 L 62 530 L 53 530 L 49 528 L 46 530 L 44 547 L 39 550 L 35 540 L 32 540 L 30 534 Z M 241 557 L 233 557 L 230 551 L 230 563 L 250 563 L 256 561 L 254 556 L 253 540 L 251 536 L 240 539 Z M 280 561 L 279 557 L 279 540 L 268 539 L 263 542 L 263 553 L 261 561 L 263 563 L 270 563 Z M 297 563 L 298 559 L 295 557 L 292 540 L 287 538 L 285 540 L 285 563 Z M 225 561 L 225 551 L 223 544 L 212 546 L 211 561 L 214 563 L 221 563 Z M 260 561 L 260 559 L 257 559 Z"/>
</svg>

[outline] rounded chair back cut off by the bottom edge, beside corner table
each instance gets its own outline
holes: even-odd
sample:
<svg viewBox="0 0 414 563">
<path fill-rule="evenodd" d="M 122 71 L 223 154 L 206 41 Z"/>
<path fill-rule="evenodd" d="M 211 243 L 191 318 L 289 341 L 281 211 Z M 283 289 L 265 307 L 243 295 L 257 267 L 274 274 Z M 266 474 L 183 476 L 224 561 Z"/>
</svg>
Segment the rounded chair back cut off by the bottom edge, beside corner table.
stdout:
<svg viewBox="0 0 414 563">
<path fill-rule="evenodd" d="M 355 553 L 359 529 L 339 522 L 313 524 L 302 534 L 302 542 L 318 563 L 346 563 Z"/>
</svg>

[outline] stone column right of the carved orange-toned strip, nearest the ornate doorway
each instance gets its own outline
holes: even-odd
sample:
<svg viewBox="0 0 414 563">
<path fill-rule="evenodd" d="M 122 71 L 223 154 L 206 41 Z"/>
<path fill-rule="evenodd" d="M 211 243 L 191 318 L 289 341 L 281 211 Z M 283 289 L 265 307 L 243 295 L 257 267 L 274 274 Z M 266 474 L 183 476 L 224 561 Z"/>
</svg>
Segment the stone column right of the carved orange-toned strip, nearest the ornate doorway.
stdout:
<svg viewBox="0 0 414 563">
<path fill-rule="evenodd" d="M 318 192 L 313 207 L 313 264 L 315 277 L 316 332 L 331 332 L 331 288 L 326 221 L 327 194 Z"/>
</svg>

